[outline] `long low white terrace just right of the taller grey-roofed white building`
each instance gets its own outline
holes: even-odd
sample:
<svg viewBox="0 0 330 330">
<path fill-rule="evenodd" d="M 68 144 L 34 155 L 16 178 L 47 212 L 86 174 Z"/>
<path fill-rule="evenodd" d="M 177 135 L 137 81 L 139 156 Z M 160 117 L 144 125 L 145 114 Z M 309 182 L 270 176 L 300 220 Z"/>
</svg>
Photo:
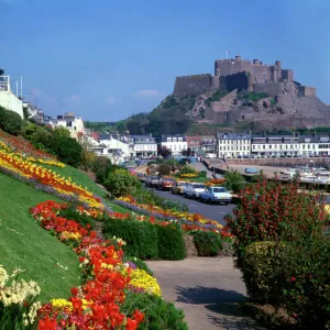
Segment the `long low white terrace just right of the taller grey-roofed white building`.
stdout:
<svg viewBox="0 0 330 330">
<path fill-rule="evenodd" d="M 253 136 L 251 154 L 257 156 L 298 156 L 299 141 L 295 135 Z"/>
</svg>

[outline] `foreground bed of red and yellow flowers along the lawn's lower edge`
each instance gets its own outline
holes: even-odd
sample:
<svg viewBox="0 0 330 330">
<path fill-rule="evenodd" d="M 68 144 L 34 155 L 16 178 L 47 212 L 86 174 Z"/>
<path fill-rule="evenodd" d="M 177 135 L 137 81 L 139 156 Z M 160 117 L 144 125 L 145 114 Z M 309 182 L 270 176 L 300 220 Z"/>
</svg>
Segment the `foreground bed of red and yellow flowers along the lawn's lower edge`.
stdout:
<svg viewBox="0 0 330 330">
<path fill-rule="evenodd" d="M 45 201 L 31 209 L 31 213 L 45 230 L 76 246 L 74 250 L 86 282 L 72 289 L 69 299 L 53 299 L 44 305 L 38 310 L 38 329 L 66 329 L 74 324 L 75 329 L 136 329 L 144 315 L 136 309 L 130 318 L 120 311 L 125 290 L 132 288 L 136 293 L 141 289 L 160 296 L 160 286 L 131 262 L 122 262 L 122 240 L 100 240 L 89 228 L 58 217 L 57 213 L 66 207 L 66 204 Z M 78 211 L 98 217 L 98 213 L 81 207 Z"/>
</svg>

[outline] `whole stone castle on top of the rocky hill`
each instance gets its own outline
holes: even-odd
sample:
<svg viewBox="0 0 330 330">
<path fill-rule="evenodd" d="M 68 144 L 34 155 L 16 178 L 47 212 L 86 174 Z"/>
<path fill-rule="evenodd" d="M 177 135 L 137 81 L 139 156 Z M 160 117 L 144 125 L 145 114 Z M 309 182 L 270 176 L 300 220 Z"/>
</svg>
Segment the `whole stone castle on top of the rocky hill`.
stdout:
<svg viewBox="0 0 330 330">
<path fill-rule="evenodd" d="M 279 61 L 266 65 L 258 59 L 246 61 L 240 55 L 215 62 L 215 75 L 204 74 L 177 77 L 174 95 L 198 96 L 215 89 L 266 92 L 270 97 L 286 94 L 285 87 L 294 82 L 294 70 L 283 69 Z M 295 82 L 301 97 L 316 97 L 316 89 Z"/>
</svg>

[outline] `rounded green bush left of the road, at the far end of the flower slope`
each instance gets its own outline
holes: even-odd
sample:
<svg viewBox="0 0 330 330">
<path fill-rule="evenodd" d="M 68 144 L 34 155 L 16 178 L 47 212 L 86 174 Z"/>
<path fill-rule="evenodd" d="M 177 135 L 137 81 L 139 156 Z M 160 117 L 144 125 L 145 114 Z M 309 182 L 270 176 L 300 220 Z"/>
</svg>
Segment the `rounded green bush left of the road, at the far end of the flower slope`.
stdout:
<svg viewBox="0 0 330 330">
<path fill-rule="evenodd" d="M 134 196 L 141 189 L 141 183 L 127 169 L 117 168 L 108 174 L 105 187 L 114 197 L 127 196 L 128 193 Z"/>
</svg>

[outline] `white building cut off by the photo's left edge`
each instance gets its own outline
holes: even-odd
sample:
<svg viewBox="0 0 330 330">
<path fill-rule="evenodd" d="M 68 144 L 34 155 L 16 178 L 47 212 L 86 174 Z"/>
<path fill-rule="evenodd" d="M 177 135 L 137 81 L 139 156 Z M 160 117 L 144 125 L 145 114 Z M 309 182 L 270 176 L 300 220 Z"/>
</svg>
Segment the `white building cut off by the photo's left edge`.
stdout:
<svg viewBox="0 0 330 330">
<path fill-rule="evenodd" d="M 14 111 L 23 118 L 23 103 L 22 101 L 11 91 L 10 77 L 0 76 L 0 106 L 7 110 Z"/>
</svg>

